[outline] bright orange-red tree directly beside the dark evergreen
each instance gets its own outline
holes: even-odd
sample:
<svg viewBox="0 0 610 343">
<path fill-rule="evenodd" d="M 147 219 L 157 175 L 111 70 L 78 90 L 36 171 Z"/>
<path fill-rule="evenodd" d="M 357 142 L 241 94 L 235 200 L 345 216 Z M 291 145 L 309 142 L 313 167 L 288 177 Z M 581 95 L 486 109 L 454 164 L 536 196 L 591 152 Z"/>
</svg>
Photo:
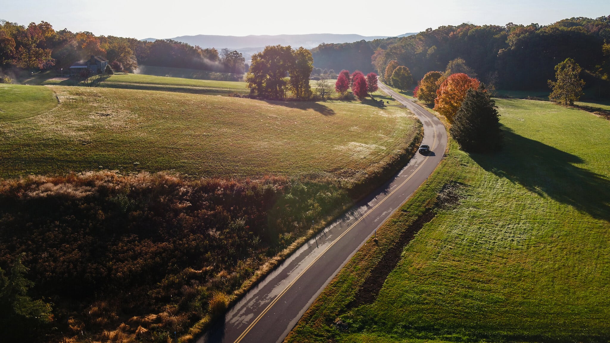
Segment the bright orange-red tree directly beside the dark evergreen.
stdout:
<svg viewBox="0 0 610 343">
<path fill-rule="evenodd" d="M 453 124 L 453 118 L 462 106 L 466 92 L 470 88 L 479 88 L 480 83 L 477 79 L 470 78 L 464 73 L 451 74 L 436 91 L 434 109 Z"/>
</svg>

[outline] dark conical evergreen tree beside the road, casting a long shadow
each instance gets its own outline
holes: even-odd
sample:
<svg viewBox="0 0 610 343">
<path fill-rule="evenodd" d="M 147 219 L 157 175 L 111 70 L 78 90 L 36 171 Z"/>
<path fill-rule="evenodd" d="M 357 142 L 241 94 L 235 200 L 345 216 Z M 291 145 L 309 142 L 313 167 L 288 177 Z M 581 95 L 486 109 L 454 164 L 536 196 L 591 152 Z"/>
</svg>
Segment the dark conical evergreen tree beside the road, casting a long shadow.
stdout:
<svg viewBox="0 0 610 343">
<path fill-rule="evenodd" d="M 484 90 L 469 88 L 449 132 L 464 151 L 500 150 L 500 114 L 495 101 Z"/>
</svg>

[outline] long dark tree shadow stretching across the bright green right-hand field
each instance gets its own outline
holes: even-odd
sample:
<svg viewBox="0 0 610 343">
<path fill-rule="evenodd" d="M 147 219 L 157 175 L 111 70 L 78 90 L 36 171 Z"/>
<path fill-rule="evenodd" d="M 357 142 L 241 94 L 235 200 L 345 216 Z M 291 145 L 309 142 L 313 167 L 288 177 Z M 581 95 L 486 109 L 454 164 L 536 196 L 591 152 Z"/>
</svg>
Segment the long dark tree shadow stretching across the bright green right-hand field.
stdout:
<svg viewBox="0 0 610 343">
<path fill-rule="evenodd" d="M 610 221 L 610 179 L 578 167 L 584 161 L 576 155 L 525 138 L 506 127 L 503 133 L 503 151 L 470 154 L 472 159 L 485 170 L 518 182 L 540 197 L 551 197 L 594 218 Z"/>
</svg>

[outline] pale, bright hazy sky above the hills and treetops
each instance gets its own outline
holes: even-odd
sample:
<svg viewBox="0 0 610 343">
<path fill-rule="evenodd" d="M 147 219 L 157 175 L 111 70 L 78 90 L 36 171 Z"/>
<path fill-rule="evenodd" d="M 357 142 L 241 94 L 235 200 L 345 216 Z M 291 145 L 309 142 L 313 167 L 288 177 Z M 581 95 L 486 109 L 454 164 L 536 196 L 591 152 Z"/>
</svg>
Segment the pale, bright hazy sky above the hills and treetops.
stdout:
<svg viewBox="0 0 610 343">
<path fill-rule="evenodd" d="M 461 23 L 550 24 L 610 15 L 609 0 L 0 0 L 0 20 L 96 35 L 400 35 Z"/>
</svg>

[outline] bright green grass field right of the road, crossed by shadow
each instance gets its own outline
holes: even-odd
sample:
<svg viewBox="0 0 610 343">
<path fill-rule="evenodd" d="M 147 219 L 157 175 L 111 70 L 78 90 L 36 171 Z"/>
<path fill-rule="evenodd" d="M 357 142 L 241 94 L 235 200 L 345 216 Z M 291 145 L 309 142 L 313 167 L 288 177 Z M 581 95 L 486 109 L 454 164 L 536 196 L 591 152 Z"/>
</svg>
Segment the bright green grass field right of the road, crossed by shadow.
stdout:
<svg viewBox="0 0 610 343">
<path fill-rule="evenodd" d="M 542 101 L 497 105 L 504 150 L 452 142 L 287 342 L 608 341 L 610 121 Z M 378 291 L 359 291 L 379 273 Z"/>
</svg>

